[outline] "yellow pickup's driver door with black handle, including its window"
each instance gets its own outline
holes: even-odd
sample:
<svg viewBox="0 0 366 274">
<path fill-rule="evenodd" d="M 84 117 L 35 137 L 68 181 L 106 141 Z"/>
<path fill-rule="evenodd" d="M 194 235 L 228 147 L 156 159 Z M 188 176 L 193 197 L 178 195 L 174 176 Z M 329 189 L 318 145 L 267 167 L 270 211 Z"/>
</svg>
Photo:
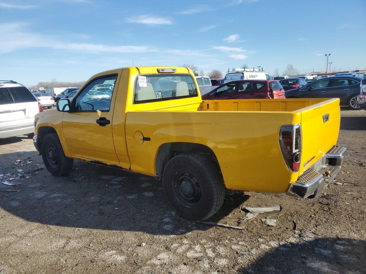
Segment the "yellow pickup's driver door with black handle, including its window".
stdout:
<svg viewBox="0 0 366 274">
<path fill-rule="evenodd" d="M 64 113 L 62 128 L 72 156 L 119 164 L 112 136 L 117 84 L 109 98 L 90 96 L 101 84 L 116 81 L 117 76 L 114 74 L 93 79 L 71 99 L 72 112 Z"/>
</svg>

